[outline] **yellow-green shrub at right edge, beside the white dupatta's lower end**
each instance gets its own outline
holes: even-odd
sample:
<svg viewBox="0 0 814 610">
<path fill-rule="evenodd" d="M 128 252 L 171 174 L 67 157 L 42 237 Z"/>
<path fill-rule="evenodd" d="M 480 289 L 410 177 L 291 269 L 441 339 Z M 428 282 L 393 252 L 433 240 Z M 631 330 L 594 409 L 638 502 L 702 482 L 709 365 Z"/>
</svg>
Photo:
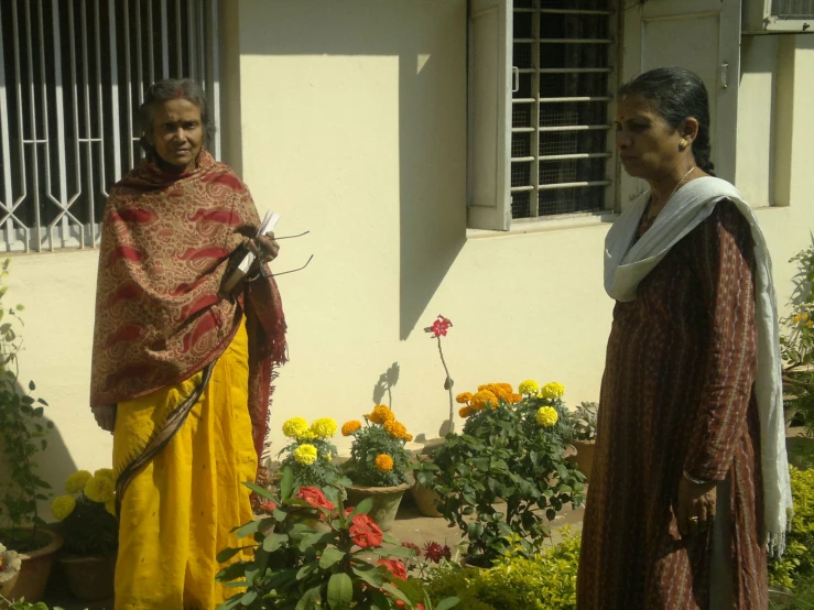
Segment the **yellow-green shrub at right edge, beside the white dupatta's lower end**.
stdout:
<svg viewBox="0 0 814 610">
<path fill-rule="evenodd" d="M 814 576 L 814 470 L 792 466 L 790 471 L 794 520 L 785 554 L 769 565 L 769 584 L 794 589 L 795 581 Z"/>
</svg>

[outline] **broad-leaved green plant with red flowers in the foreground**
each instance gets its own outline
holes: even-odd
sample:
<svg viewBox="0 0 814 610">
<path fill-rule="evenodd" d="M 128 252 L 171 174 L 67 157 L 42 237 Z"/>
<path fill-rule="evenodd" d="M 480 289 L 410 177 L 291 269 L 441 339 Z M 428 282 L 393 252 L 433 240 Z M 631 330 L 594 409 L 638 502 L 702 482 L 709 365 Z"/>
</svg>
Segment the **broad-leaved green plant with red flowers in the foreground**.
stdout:
<svg viewBox="0 0 814 610">
<path fill-rule="evenodd" d="M 243 589 L 219 610 L 432 608 L 421 581 L 408 577 L 403 559 L 413 552 L 384 534 L 370 518 L 372 501 L 345 508 L 337 487 L 297 489 L 287 467 L 280 495 L 246 484 L 264 499 L 269 515 L 240 527 L 237 536 L 245 542 L 218 554 L 219 562 L 232 563 L 217 580 Z M 303 512 L 328 530 L 310 527 L 300 519 Z M 435 610 L 457 602 L 445 599 Z"/>
</svg>

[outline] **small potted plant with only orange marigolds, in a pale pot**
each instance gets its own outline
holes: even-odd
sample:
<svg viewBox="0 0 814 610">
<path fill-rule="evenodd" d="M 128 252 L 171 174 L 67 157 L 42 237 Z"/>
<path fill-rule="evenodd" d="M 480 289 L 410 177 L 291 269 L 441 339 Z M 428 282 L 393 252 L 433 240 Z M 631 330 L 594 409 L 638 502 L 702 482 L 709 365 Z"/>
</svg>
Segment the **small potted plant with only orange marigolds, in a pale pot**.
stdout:
<svg viewBox="0 0 814 610">
<path fill-rule="evenodd" d="M 372 500 L 370 516 L 386 532 L 393 525 L 404 492 L 413 484 L 410 451 L 404 444 L 413 437 L 386 405 L 377 405 L 361 422 L 347 422 L 343 435 L 352 436 L 345 471 L 352 481 L 348 501 Z"/>
</svg>

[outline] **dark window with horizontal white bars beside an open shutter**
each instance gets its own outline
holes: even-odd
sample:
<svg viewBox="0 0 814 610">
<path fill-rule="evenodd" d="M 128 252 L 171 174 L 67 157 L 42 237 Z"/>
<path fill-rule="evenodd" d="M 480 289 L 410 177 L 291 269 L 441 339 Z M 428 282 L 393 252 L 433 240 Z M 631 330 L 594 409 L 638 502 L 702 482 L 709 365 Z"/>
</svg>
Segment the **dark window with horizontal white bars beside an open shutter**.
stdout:
<svg viewBox="0 0 814 610">
<path fill-rule="evenodd" d="M 610 0 L 515 0 L 511 215 L 606 207 L 612 73 Z"/>
</svg>

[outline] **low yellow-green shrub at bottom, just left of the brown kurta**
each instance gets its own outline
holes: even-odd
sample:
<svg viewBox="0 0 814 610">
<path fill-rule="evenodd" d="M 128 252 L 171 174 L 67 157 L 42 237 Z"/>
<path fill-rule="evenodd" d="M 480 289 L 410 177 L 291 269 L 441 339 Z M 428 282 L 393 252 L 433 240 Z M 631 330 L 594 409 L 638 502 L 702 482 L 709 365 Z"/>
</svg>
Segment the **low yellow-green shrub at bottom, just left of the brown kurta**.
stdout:
<svg viewBox="0 0 814 610">
<path fill-rule="evenodd" d="M 574 610 L 579 543 L 579 533 L 567 532 L 562 543 L 530 558 L 514 547 L 490 569 L 438 574 L 427 591 L 432 599 L 457 595 L 460 608 L 471 610 Z"/>
</svg>

